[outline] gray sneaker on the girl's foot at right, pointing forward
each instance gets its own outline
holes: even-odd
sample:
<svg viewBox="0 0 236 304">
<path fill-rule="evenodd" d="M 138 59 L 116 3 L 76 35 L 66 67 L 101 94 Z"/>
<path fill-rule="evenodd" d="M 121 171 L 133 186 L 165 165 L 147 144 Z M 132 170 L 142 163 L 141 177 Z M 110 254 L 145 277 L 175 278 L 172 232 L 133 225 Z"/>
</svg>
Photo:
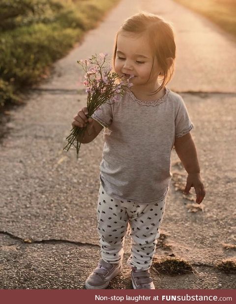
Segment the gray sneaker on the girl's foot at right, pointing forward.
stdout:
<svg viewBox="0 0 236 304">
<path fill-rule="evenodd" d="M 131 279 L 134 289 L 155 289 L 148 270 L 136 270 L 132 267 Z"/>
</svg>

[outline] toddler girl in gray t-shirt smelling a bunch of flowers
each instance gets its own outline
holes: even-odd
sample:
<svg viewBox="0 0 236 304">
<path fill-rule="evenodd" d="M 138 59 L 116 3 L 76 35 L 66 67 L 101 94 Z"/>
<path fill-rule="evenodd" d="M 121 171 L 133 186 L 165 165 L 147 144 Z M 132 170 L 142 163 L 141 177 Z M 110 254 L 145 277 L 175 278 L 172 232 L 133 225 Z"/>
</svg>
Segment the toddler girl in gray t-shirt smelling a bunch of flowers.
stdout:
<svg viewBox="0 0 236 304">
<path fill-rule="evenodd" d="M 83 108 L 72 122 L 88 124 L 81 143 L 89 143 L 105 127 L 97 206 L 101 259 L 86 280 L 87 289 L 105 289 L 121 271 L 128 224 L 133 288 L 155 289 L 149 268 L 172 178 L 174 146 L 188 173 L 185 193 L 193 186 L 199 204 L 205 196 L 190 134 L 193 123 L 181 96 L 166 87 L 175 52 L 170 24 L 148 13 L 128 18 L 116 35 L 114 69 L 133 86 L 118 101 L 100 106 L 92 118 Z"/>
</svg>

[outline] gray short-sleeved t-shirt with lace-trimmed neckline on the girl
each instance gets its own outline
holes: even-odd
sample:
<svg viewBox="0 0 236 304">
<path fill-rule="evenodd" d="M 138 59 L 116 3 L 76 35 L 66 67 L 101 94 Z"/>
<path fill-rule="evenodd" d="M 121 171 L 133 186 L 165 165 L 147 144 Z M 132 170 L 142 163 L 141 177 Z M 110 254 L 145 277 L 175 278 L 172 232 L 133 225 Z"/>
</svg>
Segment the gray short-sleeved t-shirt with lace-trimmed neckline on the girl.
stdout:
<svg viewBox="0 0 236 304">
<path fill-rule="evenodd" d="M 182 97 L 165 90 L 162 98 L 148 102 L 127 91 L 92 115 L 105 127 L 100 180 L 109 196 L 154 204 L 167 195 L 175 137 L 194 126 Z"/>
</svg>

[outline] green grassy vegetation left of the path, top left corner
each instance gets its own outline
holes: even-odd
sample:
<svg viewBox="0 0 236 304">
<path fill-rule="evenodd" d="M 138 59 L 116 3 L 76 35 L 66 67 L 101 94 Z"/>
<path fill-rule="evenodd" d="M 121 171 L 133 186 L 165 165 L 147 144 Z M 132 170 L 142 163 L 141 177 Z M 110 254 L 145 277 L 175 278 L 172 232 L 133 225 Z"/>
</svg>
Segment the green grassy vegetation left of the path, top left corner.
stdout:
<svg viewBox="0 0 236 304">
<path fill-rule="evenodd" d="M 118 0 L 1 0 L 0 108 L 50 71 Z"/>
</svg>

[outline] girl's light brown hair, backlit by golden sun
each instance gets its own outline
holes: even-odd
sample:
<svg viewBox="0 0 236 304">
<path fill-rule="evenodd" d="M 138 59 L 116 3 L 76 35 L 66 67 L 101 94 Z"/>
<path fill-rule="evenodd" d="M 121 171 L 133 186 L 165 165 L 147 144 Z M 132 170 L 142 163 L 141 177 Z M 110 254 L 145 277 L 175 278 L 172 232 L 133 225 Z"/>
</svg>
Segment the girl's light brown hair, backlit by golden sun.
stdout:
<svg viewBox="0 0 236 304">
<path fill-rule="evenodd" d="M 142 35 L 147 34 L 149 45 L 153 52 L 154 57 L 161 69 L 163 70 L 163 82 L 160 88 L 154 92 L 161 91 L 165 85 L 170 82 L 172 75 L 175 70 L 175 59 L 176 59 L 176 44 L 174 39 L 174 30 L 170 23 L 157 15 L 140 12 L 124 21 L 118 30 L 115 38 L 115 48 L 113 54 L 113 64 L 115 65 L 116 53 L 117 53 L 117 38 L 121 31 L 127 31 L 130 33 Z M 172 58 L 171 64 L 167 61 L 168 58 Z M 152 61 L 152 70 L 153 70 Z M 151 70 L 151 72 L 152 72 Z M 151 73 L 150 73 L 151 76 Z M 150 78 L 149 76 L 149 78 Z"/>
</svg>

